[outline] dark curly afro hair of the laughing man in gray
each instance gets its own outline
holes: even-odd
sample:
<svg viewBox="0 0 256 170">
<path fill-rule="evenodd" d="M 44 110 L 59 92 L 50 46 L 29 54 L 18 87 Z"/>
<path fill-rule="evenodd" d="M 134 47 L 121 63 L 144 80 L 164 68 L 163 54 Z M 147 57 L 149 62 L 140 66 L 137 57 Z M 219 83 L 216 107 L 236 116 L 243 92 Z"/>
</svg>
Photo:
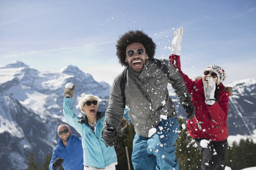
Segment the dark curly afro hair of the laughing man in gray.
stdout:
<svg viewBox="0 0 256 170">
<path fill-rule="evenodd" d="M 146 53 L 148 54 L 149 59 L 153 58 L 156 51 L 156 44 L 153 42 L 152 38 L 150 38 L 143 31 L 129 31 L 125 33 L 123 36 L 119 38 L 117 41 L 117 56 L 119 59 L 119 63 L 122 66 L 127 66 L 128 64 L 125 62 L 126 58 L 126 47 L 133 43 L 141 43 L 146 49 Z"/>
</svg>

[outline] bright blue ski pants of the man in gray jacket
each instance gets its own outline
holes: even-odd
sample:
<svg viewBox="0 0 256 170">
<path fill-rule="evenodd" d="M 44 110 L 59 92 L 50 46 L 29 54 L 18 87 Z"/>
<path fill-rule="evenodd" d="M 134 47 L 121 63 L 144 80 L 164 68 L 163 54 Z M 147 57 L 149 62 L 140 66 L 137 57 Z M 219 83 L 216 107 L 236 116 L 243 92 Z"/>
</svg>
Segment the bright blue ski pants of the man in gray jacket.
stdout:
<svg viewBox="0 0 256 170">
<path fill-rule="evenodd" d="M 150 138 L 135 134 L 132 164 L 135 170 L 178 170 L 178 160 L 173 146 L 178 137 L 180 124 L 177 118 L 162 120 L 156 133 Z"/>
</svg>

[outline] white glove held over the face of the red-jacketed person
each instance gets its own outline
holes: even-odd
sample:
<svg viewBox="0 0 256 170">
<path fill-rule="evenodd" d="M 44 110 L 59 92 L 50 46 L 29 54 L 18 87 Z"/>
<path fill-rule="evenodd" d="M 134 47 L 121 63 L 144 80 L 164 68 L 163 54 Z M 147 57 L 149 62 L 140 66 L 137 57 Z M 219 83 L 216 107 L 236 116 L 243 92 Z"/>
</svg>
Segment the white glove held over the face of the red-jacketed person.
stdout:
<svg viewBox="0 0 256 170">
<path fill-rule="evenodd" d="M 208 78 L 209 86 L 207 87 L 206 81 L 203 82 L 204 96 L 206 97 L 206 104 L 213 105 L 215 103 L 214 92 L 216 89 L 215 82 L 212 77 Z"/>
</svg>

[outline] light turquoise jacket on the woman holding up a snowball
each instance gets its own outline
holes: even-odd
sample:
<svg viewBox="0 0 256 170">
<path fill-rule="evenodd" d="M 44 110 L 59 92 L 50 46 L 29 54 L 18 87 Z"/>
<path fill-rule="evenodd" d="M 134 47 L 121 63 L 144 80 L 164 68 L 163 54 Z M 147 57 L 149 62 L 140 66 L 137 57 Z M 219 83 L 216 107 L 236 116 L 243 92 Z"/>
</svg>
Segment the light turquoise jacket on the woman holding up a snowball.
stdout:
<svg viewBox="0 0 256 170">
<path fill-rule="evenodd" d="M 125 110 L 126 115 L 129 110 Z M 105 112 L 97 112 L 97 121 L 95 124 L 95 133 L 87 124 L 87 117 L 78 117 L 73 112 L 72 98 L 64 98 L 63 113 L 68 124 L 82 136 L 82 146 L 84 151 L 84 165 L 105 168 L 114 162 L 117 162 L 117 154 L 114 147 L 106 147 L 104 139 L 101 137 Z"/>
</svg>

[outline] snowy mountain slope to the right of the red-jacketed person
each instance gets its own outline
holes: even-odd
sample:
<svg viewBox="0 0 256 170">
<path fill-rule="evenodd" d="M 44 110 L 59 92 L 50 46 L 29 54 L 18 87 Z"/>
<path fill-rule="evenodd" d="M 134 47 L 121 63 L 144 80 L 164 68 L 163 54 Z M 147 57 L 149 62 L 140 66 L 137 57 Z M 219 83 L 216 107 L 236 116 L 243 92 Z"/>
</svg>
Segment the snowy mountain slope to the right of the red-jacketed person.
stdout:
<svg viewBox="0 0 256 170">
<path fill-rule="evenodd" d="M 229 135 L 252 135 L 256 129 L 256 79 L 235 81 L 227 86 L 233 88 L 229 97 Z"/>
</svg>

